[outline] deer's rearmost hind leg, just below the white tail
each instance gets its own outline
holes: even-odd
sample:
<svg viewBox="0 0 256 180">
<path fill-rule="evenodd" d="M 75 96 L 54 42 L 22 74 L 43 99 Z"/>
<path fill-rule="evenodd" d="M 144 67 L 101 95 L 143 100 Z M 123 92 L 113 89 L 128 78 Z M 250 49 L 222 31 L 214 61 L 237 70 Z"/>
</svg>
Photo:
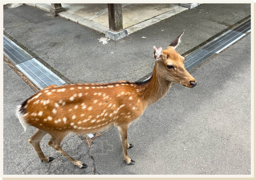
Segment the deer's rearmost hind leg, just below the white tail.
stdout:
<svg viewBox="0 0 256 180">
<path fill-rule="evenodd" d="M 44 153 L 42 152 L 40 148 L 40 141 L 41 139 L 47 134 L 45 131 L 37 129 L 34 135 L 29 139 L 30 144 L 33 145 L 33 148 L 35 149 L 35 152 L 38 154 L 40 160 L 46 163 L 52 161 L 54 158 L 52 157 L 46 157 Z"/>
</svg>

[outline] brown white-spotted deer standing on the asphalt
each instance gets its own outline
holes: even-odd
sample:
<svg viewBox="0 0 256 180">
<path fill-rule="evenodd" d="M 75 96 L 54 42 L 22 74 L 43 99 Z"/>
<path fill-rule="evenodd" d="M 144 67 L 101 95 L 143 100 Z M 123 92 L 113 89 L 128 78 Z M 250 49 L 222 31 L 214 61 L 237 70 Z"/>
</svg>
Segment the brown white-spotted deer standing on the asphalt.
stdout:
<svg viewBox="0 0 256 180">
<path fill-rule="evenodd" d="M 172 84 L 194 88 L 195 78 L 184 67 L 184 57 L 175 51 L 181 35 L 162 50 L 154 48 L 155 66 L 151 78 L 146 81 L 118 81 L 105 84 L 50 85 L 38 91 L 19 105 L 16 115 L 26 131 L 27 125 L 37 128 L 28 140 L 40 160 L 51 162 L 40 148 L 41 139 L 48 133 L 49 145 L 83 169 L 84 164 L 68 155 L 60 146 L 70 133 L 88 134 L 116 126 L 123 149 L 123 159 L 129 165 L 135 161 L 128 157 L 127 149 L 134 145 L 127 142 L 129 125 L 137 120 L 147 106 L 167 94 Z"/>
</svg>

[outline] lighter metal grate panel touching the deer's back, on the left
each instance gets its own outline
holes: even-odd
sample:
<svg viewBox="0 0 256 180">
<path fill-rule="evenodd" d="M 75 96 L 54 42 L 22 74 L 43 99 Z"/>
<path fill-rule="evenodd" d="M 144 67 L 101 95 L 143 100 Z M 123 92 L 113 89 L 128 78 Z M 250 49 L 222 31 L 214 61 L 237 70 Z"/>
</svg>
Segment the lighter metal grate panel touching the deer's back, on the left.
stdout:
<svg viewBox="0 0 256 180">
<path fill-rule="evenodd" d="M 50 85 L 63 85 L 65 81 L 52 73 L 35 58 L 16 65 L 17 68 L 29 78 L 39 89 L 44 89 Z"/>
</svg>

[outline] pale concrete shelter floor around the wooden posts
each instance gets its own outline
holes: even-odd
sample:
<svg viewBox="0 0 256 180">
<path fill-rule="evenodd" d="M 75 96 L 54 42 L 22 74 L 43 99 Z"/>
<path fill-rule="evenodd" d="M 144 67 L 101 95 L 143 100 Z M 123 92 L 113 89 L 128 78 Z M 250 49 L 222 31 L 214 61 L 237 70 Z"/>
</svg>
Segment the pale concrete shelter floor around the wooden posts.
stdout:
<svg viewBox="0 0 256 180">
<path fill-rule="evenodd" d="M 26 5 L 48 12 L 52 8 L 51 4 Z M 107 4 L 61 4 L 61 6 L 66 11 L 58 13 L 58 16 L 100 33 L 109 30 Z M 179 4 L 122 4 L 123 28 L 131 34 L 185 10 L 188 8 Z"/>
</svg>

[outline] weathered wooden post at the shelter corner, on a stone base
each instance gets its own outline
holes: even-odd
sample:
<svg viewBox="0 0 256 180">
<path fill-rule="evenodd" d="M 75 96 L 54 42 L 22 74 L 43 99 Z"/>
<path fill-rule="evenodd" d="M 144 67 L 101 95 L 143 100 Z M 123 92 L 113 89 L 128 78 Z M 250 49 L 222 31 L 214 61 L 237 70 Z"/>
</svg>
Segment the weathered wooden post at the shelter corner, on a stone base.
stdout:
<svg viewBox="0 0 256 180">
<path fill-rule="evenodd" d="M 108 4 L 108 24 L 112 32 L 123 31 L 122 4 Z"/>
</svg>

